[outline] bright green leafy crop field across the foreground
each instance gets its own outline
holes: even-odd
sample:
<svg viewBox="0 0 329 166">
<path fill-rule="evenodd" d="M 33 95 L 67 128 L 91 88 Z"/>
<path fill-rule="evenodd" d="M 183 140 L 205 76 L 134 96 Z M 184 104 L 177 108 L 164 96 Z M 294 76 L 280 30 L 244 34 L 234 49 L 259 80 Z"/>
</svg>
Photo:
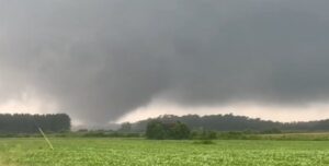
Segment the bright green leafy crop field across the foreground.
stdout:
<svg viewBox="0 0 329 166">
<path fill-rule="evenodd" d="M 325 166 L 328 141 L 0 139 L 1 166 Z"/>
</svg>

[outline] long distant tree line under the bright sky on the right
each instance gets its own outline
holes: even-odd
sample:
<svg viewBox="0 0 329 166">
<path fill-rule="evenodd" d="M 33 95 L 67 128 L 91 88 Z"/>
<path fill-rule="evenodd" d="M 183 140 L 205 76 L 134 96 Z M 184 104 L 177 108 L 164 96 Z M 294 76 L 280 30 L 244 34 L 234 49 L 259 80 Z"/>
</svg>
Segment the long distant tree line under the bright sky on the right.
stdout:
<svg viewBox="0 0 329 166">
<path fill-rule="evenodd" d="M 329 119 L 317 121 L 279 122 L 249 118 L 246 116 L 228 115 L 186 115 L 173 116 L 163 115 L 158 118 L 149 118 L 132 123 L 131 130 L 134 132 L 145 132 L 147 123 L 158 120 L 163 123 L 180 121 L 185 123 L 191 130 L 212 130 L 212 131 L 329 131 Z"/>
</svg>

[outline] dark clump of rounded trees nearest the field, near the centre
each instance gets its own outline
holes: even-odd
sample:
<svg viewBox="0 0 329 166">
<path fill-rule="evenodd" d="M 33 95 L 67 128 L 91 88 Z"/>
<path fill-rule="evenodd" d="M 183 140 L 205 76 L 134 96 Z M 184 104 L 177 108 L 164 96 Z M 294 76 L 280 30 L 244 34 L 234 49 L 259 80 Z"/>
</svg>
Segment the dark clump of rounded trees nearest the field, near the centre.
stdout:
<svg viewBox="0 0 329 166">
<path fill-rule="evenodd" d="M 188 126 L 180 121 L 164 123 L 159 120 L 151 120 L 146 127 L 146 137 L 152 140 L 184 140 L 190 138 L 190 132 Z"/>
</svg>

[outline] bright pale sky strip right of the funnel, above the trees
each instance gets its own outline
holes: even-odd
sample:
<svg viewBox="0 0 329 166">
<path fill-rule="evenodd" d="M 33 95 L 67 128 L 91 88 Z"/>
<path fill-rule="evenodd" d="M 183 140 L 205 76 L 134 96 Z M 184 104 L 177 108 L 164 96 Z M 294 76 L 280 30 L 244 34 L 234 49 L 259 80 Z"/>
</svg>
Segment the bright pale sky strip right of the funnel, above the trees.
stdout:
<svg viewBox="0 0 329 166">
<path fill-rule="evenodd" d="M 309 121 L 329 118 L 329 104 L 313 103 L 308 105 L 296 106 L 275 106 L 259 105 L 254 103 L 237 103 L 225 106 L 182 106 L 167 102 L 154 102 L 147 106 L 139 107 L 134 111 L 126 114 L 116 122 L 147 119 L 160 115 L 183 116 L 189 114 L 195 115 L 217 115 L 234 114 L 236 116 L 247 116 L 250 118 L 261 118 L 263 120 L 273 120 L 282 122 Z"/>
</svg>

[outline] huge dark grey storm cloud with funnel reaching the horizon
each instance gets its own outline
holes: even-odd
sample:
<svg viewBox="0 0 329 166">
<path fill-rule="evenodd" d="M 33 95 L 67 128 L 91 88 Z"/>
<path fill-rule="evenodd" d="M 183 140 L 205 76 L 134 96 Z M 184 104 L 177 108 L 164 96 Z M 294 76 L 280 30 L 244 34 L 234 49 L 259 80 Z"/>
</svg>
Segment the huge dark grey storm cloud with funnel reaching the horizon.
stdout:
<svg viewBox="0 0 329 166">
<path fill-rule="evenodd" d="M 186 105 L 327 99 L 328 7 L 0 0 L 0 99 L 33 90 L 93 122 L 157 97 Z"/>
</svg>

